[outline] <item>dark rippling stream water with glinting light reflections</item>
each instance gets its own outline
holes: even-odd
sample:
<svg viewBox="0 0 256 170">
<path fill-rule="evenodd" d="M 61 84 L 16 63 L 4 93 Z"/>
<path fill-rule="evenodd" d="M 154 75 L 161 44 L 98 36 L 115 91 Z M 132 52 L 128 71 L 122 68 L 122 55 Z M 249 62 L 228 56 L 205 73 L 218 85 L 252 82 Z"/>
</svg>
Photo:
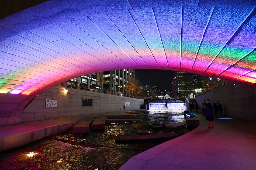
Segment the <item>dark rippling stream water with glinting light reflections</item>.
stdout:
<svg viewBox="0 0 256 170">
<path fill-rule="evenodd" d="M 88 134 L 66 132 L 30 145 L 2 153 L 0 169 L 118 169 L 131 157 L 165 141 L 117 144 L 117 135 L 137 135 L 138 130 L 154 134 L 175 132 L 183 135 L 186 128 L 152 129 L 151 126 L 185 121 L 177 113 L 149 113 L 143 121 L 106 125 L 105 131 Z M 190 129 L 192 130 L 192 129 Z"/>
</svg>

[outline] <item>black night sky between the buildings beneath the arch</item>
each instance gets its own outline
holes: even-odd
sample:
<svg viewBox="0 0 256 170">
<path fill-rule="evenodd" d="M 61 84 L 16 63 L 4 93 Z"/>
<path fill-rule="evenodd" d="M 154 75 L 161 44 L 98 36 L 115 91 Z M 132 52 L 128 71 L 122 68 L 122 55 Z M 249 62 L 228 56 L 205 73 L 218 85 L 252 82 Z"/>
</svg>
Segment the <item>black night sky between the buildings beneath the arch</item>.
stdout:
<svg viewBox="0 0 256 170">
<path fill-rule="evenodd" d="M 157 86 L 158 91 L 172 90 L 172 79 L 175 71 L 153 70 L 153 69 L 135 69 L 135 78 L 139 79 L 142 86 Z"/>
</svg>

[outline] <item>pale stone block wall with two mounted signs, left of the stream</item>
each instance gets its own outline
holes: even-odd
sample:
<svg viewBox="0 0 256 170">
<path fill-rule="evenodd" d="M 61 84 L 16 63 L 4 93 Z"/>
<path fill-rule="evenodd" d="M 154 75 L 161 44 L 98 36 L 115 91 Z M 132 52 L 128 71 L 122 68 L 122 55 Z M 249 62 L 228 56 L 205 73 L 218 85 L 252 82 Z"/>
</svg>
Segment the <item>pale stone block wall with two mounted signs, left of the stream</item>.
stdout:
<svg viewBox="0 0 256 170">
<path fill-rule="evenodd" d="M 36 97 L 20 115 L 22 122 L 122 111 L 124 102 L 130 102 L 126 111 L 140 109 L 144 104 L 142 99 L 72 88 L 67 90 L 56 86 Z M 57 107 L 45 107 L 46 99 L 57 100 Z M 92 99 L 92 106 L 82 106 L 82 99 Z"/>
</svg>

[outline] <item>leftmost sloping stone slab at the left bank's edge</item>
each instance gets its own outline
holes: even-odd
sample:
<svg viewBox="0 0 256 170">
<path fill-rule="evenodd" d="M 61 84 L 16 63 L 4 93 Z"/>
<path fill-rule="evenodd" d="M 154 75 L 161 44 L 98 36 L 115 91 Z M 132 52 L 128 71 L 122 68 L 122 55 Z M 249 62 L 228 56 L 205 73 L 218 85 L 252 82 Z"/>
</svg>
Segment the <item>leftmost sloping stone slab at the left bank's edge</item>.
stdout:
<svg viewBox="0 0 256 170">
<path fill-rule="evenodd" d="M 73 133 L 88 133 L 89 132 L 89 126 L 90 126 L 90 124 L 92 123 L 92 121 L 94 119 L 95 119 L 94 116 L 82 117 L 73 126 Z"/>
</svg>

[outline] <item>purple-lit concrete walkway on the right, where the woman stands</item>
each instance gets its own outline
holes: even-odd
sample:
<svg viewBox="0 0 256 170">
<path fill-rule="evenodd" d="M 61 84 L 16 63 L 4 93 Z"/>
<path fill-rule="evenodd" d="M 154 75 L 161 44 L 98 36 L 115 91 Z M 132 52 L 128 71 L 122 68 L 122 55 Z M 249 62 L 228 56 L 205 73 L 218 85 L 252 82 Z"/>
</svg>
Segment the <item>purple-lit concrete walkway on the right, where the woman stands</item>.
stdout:
<svg viewBox="0 0 256 170">
<path fill-rule="evenodd" d="M 256 169 L 256 123 L 215 117 L 208 129 L 205 116 L 197 118 L 198 128 L 134 156 L 119 170 Z"/>
</svg>

